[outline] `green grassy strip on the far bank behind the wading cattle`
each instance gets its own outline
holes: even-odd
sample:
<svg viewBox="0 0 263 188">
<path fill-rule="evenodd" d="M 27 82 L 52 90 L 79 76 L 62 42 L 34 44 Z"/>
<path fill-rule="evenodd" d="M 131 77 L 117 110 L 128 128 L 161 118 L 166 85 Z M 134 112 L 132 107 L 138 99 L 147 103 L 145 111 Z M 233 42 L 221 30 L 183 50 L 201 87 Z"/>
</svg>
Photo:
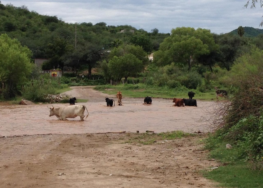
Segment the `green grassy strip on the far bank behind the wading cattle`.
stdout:
<svg viewBox="0 0 263 188">
<path fill-rule="evenodd" d="M 189 90 L 186 87 L 170 89 L 168 87 L 148 86 L 145 84 L 119 84 L 119 85 L 101 85 L 94 87 L 95 90 L 102 91 L 109 95 L 116 95 L 117 91 L 122 92 L 123 97 L 144 98 L 152 96 L 153 98 L 189 98 L 188 92 L 195 92 L 194 99 L 213 100 L 215 92 L 210 91 L 201 93 L 198 90 Z"/>
</svg>

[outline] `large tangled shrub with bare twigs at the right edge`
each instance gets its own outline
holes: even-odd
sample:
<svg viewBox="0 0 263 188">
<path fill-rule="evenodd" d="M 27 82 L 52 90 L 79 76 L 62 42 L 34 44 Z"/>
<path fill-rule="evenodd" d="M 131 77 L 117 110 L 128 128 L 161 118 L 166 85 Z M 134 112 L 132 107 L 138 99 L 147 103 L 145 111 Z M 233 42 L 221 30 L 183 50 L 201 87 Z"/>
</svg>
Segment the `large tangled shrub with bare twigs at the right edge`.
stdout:
<svg viewBox="0 0 263 188">
<path fill-rule="evenodd" d="M 263 157 L 262 60 L 259 49 L 236 59 L 228 73 L 233 94 L 214 112 L 213 126 L 220 137 L 242 148 L 243 157 L 253 162 Z"/>
</svg>

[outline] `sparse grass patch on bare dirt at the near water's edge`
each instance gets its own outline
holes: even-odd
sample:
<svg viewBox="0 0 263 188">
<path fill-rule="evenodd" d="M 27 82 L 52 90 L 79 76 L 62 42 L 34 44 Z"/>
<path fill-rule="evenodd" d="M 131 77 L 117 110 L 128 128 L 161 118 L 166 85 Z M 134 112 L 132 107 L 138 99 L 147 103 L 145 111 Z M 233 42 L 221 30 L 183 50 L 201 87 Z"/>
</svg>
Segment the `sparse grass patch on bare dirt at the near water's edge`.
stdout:
<svg viewBox="0 0 263 188">
<path fill-rule="evenodd" d="M 193 134 L 185 133 L 183 131 L 161 132 L 158 134 L 145 132 L 142 134 L 131 135 L 129 137 L 129 140 L 125 141 L 125 143 L 139 143 L 142 145 L 150 145 L 160 140 L 175 140 L 188 136 L 193 136 Z"/>
</svg>

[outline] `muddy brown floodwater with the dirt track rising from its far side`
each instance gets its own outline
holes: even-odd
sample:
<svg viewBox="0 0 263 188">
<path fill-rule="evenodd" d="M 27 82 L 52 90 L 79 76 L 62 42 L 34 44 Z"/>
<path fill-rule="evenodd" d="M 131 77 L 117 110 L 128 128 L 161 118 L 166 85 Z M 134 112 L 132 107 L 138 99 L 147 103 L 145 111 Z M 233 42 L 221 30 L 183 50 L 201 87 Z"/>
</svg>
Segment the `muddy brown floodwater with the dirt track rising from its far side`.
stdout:
<svg viewBox="0 0 263 188">
<path fill-rule="evenodd" d="M 182 130 L 185 132 L 210 131 L 208 122 L 215 102 L 197 101 L 197 107 L 175 107 L 172 99 L 153 98 L 151 105 L 143 105 L 143 98 L 122 99 L 123 106 L 107 107 L 105 97 L 118 101 L 90 87 L 73 87 L 66 92 L 72 97 L 89 99 L 83 104 L 89 116 L 82 122 L 79 117 L 67 121 L 49 117 L 47 104 L 1 106 L 0 135 L 33 134 L 82 134 L 98 132 L 166 132 Z M 117 102 L 118 103 L 118 102 Z M 49 107 L 69 104 L 48 104 Z M 85 111 L 84 115 L 87 115 Z"/>
</svg>

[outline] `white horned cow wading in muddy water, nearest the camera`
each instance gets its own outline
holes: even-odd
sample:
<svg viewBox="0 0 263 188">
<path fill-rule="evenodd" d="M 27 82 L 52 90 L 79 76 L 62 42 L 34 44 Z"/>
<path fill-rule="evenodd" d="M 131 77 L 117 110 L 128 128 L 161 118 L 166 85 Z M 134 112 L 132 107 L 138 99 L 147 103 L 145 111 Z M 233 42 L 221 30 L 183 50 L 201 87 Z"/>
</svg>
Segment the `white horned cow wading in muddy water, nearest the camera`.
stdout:
<svg viewBox="0 0 263 188">
<path fill-rule="evenodd" d="M 50 108 L 50 107 L 48 107 Z M 71 105 L 71 106 L 62 106 L 62 107 L 58 107 L 58 108 L 50 108 L 49 110 L 49 117 L 55 115 L 58 119 L 60 120 L 66 120 L 66 118 L 75 118 L 77 116 L 80 116 L 80 120 L 79 121 L 84 121 L 84 111 L 85 108 L 88 112 L 87 107 L 85 107 L 84 105 Z M 88 112 L 89 115 L 89 112 Z M 86 116 L 85 119 L 87 119 L 88 115 Z"/>
</svg>

